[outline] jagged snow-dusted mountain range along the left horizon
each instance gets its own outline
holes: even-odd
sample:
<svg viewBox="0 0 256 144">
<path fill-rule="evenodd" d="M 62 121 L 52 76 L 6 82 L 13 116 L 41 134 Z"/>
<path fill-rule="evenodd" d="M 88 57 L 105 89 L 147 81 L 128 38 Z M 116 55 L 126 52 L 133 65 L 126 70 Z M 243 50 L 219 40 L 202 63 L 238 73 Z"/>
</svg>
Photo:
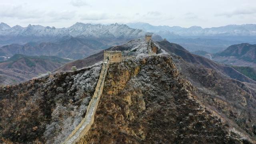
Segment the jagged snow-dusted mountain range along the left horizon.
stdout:
<svg viewBox="0 0 256 144">
<path fill-rule="evenodd" d="M 27 27 L 0 24 L 0 37 L 60 37 L 60 36 L 87 36 L 95 38 L 140 38 L 146 32 L 129 28 L 124 24 L 84 24 L 77 22 L 68 28 L 55 28 L 49 26 L 31 25 Z"/>
</svg>

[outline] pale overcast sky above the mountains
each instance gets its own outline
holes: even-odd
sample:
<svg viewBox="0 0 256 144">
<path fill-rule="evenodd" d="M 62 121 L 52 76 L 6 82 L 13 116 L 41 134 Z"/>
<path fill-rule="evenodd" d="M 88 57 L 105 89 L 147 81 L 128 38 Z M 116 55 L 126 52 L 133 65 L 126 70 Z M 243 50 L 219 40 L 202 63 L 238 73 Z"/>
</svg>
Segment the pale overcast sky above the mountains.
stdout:
<svg viewBox="0 0 256 144">
<path fill-rule="evenodd" d="M 76 22 L 203 28 L 256 24 L 256 0 L 0 0 L 0 22 L 57 28 Z"/>
</svg>

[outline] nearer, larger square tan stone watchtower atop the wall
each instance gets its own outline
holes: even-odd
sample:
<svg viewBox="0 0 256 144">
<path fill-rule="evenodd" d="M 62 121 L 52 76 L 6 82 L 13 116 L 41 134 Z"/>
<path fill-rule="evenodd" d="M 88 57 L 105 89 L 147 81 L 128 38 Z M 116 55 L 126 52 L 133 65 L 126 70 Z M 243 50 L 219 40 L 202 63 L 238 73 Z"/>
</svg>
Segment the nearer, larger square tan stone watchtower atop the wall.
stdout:
<svg viewBox="0 0 256 144">
<path fill-rule="evenodd" d="M 110 64 L 115 62 L 122 62 L 121 51 L 104 51 L 104 61 L 110 60 Z"/>
</svg>

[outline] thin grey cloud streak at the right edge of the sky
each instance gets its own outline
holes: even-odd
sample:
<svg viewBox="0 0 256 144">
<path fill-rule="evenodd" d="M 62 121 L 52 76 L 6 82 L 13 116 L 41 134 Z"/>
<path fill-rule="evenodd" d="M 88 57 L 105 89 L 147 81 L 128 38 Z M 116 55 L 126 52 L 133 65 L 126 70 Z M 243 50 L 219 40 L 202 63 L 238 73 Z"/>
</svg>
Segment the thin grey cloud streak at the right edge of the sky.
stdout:
<svg viewBox="0 0 256 144">
<path fill-rule="evenodd" d="M 215 16 L 226 16 L 226 17 L 232 17 L 237 15 L 248 15 L 248 14 L 256 14 L 256 8 L 240 8 L 228 12 L 222 12 L 219 14 L 216 14 Z"/>
</svg>

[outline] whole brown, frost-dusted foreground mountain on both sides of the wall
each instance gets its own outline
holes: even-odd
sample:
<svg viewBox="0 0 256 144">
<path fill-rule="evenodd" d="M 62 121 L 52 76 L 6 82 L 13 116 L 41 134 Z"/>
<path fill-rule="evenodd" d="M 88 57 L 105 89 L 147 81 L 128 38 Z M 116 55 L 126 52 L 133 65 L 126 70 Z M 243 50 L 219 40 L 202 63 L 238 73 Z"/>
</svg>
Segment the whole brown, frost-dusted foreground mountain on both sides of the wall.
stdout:
<svg viewBox="0 0 256 144">
<path fill-rule="evenodd" d="M 253 80 L 230 69 L 241 81 L 232 79 L 221 69 L 229 67 L 177 44 L 153 42 L 152 49 L 157 55 L 148 56 L 144 39 L 110 48 L 130 57 L 110 65 L 94 124 L 79 143 L 256 143 Z M 1 87 L 0 140 L 63 141 L 84 116 L 100 67 Z"/>
</svg>

